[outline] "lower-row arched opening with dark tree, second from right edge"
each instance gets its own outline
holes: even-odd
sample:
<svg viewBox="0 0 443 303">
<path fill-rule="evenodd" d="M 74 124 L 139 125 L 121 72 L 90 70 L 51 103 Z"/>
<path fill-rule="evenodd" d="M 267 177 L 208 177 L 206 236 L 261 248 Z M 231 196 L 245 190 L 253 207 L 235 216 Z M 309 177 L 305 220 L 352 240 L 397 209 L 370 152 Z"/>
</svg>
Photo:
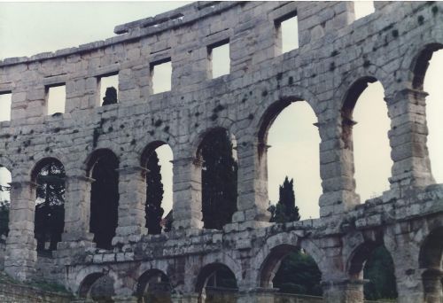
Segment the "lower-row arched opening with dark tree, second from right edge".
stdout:
<svg viewBox="0 0 443 303">
<path fill-rule="evenodd" d="M 397 299 L 397 284 L 391 253 L 380 242 L 368 242 L 354 253 L 349 274 L 355 280 L 365 280 L 364 299 Z"/>
</svg>

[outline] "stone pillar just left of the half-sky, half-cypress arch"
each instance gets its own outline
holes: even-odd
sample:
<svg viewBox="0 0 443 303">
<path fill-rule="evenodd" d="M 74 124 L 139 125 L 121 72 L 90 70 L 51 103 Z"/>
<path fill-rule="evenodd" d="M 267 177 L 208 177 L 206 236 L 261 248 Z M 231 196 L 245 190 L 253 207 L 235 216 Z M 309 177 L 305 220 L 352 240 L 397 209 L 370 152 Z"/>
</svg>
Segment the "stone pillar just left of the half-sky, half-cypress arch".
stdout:
<svg viewBox="0 0 443 303">
<path fill-rule="evenodd" d="M 146 168 L 138 166 L 119 169 L 119 224 L 113 245 L 136 242 L 147 234 L 144 218 L 146 171 Z"/>
</svg>

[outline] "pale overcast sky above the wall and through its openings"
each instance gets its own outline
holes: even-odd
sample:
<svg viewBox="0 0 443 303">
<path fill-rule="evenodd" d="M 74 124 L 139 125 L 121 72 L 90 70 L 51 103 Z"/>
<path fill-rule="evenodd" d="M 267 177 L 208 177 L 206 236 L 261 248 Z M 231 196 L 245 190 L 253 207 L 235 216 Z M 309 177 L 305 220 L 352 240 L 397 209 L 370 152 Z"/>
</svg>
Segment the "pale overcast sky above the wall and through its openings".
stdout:
<svg viewBox="0 0 443 303">
<path fill-rule="evenodd" d="M 189 2 L 0 3 L 0 58 L 31 56 L 104 40 L 113 36 L 116 25 L 154 16 L 185 4 Z M 371 12 L 369 4 L 359 5 L 359 16 Z M 294 25 L 289 27 L 292 33 L 297 32 Z M 296 35 L 292 36 L 291 41 L 284 41 L 284 50 L 293 48 L 294 41 L 297 41 Z M 443 96 L 443 85 L 439 83 L 441 79 L 438 74 L 441 66 L 443 55 L 439 54 L 438 58 L 434 56 L 425 83 L 425 90 L 430 93 L 427 103 L 430 128 L 428 146 L 432 171 L 439 182 L 443 181 L 443 157 L 437 157 L 443 154 L 443 127 L 439 119 L 443 113 L 443 102 L 437 98 Z M 116 83 L 109 85 L 116 86 Z M 357 192 L 363 201 L 389 188 L 392 161 L 387 130 L 390 121 L 383 97 L 381 85 L 371 84 L 361 95 L 354 111 L 354 120 L 358 121 L 354 127 L 355 178 Z M 5 107 L 8 106 L 5 104 L 0 97 L 0 119 L 7 114 Z M 268 136 L 268 144 L 272 146 L 268 151 L 269 199 L 276 203 L 278 186 L 283 183 L 285 175 L 294 178 L 296 203 L 303 219 L 318 217 L 318 198 L 322 193 L 318 158 L 320 138 L 317 128 L 313 126 L 315 121 L 315 115 L 307 103 L 297 102 L 277 117 Z M 167 146 L 159 150 L 159 158 L 165 183 L 163 206 L 167 214 L 172 206 L 172 167 L 169 163 L 172 152 Z M 9 182 L 8 177 L 0 172 L 0 183 L 6 182 Z"/>
</svg>

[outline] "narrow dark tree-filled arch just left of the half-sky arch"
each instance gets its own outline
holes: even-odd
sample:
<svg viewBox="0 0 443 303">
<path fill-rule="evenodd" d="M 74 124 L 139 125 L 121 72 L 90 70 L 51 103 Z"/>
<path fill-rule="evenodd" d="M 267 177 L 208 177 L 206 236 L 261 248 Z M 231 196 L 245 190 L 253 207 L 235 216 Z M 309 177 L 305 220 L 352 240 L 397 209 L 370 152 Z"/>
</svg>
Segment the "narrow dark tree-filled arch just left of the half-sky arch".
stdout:
<svg viewBox="0 0 443 303">
<path fill-rule="evenodd" d="M 94 180 L 90 190 L 89 231 L 98 248 L 111 249 L 118 224 L 119 159 L 113 151 L 97 150 L 89 159 L 88 175 Z"/>
</svg>

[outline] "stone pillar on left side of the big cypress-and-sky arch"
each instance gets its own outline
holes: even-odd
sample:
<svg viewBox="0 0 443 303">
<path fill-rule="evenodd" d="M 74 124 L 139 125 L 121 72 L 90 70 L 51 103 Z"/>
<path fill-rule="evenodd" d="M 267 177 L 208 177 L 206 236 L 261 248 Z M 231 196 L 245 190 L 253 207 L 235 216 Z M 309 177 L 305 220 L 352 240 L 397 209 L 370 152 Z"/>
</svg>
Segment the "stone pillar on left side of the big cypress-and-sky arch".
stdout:
<svg viewBox="0 0 443 303">
<path fill-rule="evenodd" d="M 233 223 L 268 225 L 267 149 L 256 143 L 237 144 L 237 212 L 232 216 Z"/>
</svg>

